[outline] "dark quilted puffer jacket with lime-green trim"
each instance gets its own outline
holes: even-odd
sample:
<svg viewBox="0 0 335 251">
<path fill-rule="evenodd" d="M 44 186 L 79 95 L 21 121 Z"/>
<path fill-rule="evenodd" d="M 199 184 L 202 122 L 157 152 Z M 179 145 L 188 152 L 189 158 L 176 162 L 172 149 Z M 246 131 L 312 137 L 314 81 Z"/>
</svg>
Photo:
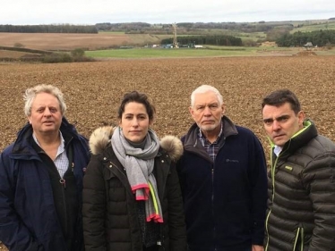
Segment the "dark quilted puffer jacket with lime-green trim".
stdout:
<svg viewBox="0 0 335 251">
<path fill-rule="evenodd" d="M 335 144 L 312 121 L 271 155 L 267 251 L 335 250 Z"/>
</svg>

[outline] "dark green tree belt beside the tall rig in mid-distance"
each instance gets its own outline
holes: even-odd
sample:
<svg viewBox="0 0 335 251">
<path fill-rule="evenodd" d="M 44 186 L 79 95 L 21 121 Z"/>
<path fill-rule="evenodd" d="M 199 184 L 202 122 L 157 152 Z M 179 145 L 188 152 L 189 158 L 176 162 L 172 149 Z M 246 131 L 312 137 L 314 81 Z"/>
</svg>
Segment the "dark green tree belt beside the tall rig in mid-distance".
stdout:
<svg viewBox="0 0 335 251">
<path fill-rule="evenodd" d="M 162 39 L 161 44 L 172 44 L 173 38 Z M 233 36 L 187 36 L 178 37 L 179 45 L 242 46 L 242 39 Z"/>
</svg>

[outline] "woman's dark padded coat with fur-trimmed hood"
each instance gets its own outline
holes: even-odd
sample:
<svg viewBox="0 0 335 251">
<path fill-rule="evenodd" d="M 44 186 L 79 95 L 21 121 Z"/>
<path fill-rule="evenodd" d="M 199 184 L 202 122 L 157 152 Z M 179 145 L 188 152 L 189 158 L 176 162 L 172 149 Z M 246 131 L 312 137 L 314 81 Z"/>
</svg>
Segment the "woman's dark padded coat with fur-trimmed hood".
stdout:
<svg viewBox="0 0 335 251">
<path fill-rule="evenodd" d="M 136 201 L 125 169 L 110 143 L 111 127 L 99 128 L 90 137 L 91 161 L 83 184 L 83 227 L 86 251 L 141 251 L 142 235 Z M 183 153 L 176 137 L 160 141 L 154 175 L 164 222 L 159 250 L 185 251 L 183 201 L 175 161 Z"/>
</svg>

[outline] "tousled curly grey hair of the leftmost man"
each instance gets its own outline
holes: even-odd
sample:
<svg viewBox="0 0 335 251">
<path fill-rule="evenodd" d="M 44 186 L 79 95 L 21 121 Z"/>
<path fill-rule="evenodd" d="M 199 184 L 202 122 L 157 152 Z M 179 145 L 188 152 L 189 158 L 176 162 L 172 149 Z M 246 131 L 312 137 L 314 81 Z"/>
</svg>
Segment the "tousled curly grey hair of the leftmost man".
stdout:
<svg viewBox="0 0 335 251">
<path fill-rule="evenodd" d="M 61 109 L 62 115 L 64 115 L 66 111 L 66 105 L 64 102 L 64 95 L 62 91 L 59 88 L 56 88 L 52 85 L 38 85 L 33 88 L 28 88 L 26 89 L 23 99 L 25 101 L 24 104 L 24 113 L 27 117 L 31 115 L 31 105 L 32 102 L 35 100 L 36 96 L 39 93 L 48 93 L 51 94 L 52 96 L 55 96 L 58 99 L 59 102 L 59 107 Z"/>
</svg>

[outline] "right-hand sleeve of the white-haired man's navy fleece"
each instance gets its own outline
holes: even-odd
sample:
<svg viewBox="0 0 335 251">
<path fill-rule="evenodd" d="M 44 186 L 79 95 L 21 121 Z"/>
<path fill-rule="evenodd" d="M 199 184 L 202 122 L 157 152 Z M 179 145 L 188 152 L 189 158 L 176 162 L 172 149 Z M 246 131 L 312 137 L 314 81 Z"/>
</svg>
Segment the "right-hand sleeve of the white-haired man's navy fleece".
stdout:
<svg viewBox="0 0 335 251">
<path fill-rule="evenodd" d="M 267 167 L 264 151 L 258 138 L 254 138 L 254 156 L 252 169 L 250 170 L 250 180 L 252 184 L 253 203 L 253 245 L 263 245 L 265 214 L 268 199 L 268 179 Z"/>
</svg>

